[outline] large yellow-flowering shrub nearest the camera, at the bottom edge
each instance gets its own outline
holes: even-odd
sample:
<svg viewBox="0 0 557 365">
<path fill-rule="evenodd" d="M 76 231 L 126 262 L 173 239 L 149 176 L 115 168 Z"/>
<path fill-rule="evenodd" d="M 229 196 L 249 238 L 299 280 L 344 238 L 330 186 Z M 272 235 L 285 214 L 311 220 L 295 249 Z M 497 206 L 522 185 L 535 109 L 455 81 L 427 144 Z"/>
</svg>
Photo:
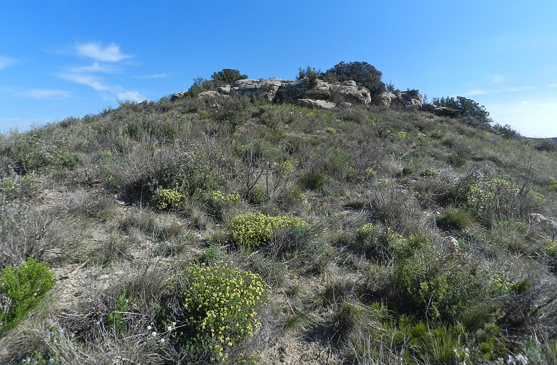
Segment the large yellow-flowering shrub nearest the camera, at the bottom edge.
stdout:
<svg viewBox="0 0 557 365">
<path fill-rule="evenodd" d="M 187 278 L 183 327 L 188 347 L 226 362 L 230 348 L 260 326 L 256 308 L 266 303 L 270 288 L 258 274 L 240 271 L 232 262 L 191 264 Z"/>
</svg>

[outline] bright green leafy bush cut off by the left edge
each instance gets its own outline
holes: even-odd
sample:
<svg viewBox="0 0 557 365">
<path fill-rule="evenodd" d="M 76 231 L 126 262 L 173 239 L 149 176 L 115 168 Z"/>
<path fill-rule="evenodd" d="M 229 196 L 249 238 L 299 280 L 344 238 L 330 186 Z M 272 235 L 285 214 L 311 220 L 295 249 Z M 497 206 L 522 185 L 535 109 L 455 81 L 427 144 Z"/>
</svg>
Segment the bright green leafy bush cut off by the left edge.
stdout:
<svg viewBox="0 0 557 365">
<path fill-rule="evenodd" d="M 0 333 L 7 332 L 54 287 L 47 263 L 27 258 L 21 267 L 6 267 L 0 276 Z"/>
</svg>

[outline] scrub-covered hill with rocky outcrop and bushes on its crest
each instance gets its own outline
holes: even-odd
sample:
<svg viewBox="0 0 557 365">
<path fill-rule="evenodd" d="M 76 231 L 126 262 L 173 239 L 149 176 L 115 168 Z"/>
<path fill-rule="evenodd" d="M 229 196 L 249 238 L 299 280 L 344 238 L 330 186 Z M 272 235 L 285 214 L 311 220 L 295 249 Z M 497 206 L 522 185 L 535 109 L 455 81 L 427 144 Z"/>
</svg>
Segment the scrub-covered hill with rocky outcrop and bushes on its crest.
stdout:
<svg viewBox="0 0 557 365">
<path fill-rule="evenodd" d="M 299 73 L 2 136 L 0 362 L 557 364 L 556 143 Z"/>
</svg>

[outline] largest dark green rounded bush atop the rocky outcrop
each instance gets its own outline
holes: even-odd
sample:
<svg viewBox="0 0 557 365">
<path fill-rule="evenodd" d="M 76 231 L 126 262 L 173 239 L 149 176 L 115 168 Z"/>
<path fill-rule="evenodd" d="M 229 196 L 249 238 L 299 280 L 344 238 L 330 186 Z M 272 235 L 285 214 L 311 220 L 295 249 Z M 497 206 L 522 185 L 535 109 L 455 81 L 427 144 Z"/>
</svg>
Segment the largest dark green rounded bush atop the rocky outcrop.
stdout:
<svg viewBox="0 0 557 365">
<path fill-rule="evenodd" d="M 374 66 L 367 62 L 340 62 L 327 70 L 323 78 L 327 81 L 354 80 L 356 84 L 367 88 L 373 98 L 386 91 L 385 84 L 381 81 L 382 72 L 378 71 Z"/>
</svg>

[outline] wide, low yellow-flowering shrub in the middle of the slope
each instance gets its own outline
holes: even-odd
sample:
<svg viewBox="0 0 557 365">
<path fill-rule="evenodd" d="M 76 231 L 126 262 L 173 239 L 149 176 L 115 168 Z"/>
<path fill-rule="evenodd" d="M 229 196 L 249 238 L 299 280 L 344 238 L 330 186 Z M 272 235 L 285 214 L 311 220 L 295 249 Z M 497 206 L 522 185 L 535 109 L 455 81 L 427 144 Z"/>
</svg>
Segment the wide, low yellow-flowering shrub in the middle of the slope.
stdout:
<svg viewBox="0 0 557 365">
<path fill-rule="evenodd" d="M 249 212 L 230 221 L 230 235 L 235 244 L 255 248 L 269 242 L 274 229 L 285 227 L 309 230 L 310 225 L 291 215 L 269 217 L 262 212 Z"/>
</svg>

